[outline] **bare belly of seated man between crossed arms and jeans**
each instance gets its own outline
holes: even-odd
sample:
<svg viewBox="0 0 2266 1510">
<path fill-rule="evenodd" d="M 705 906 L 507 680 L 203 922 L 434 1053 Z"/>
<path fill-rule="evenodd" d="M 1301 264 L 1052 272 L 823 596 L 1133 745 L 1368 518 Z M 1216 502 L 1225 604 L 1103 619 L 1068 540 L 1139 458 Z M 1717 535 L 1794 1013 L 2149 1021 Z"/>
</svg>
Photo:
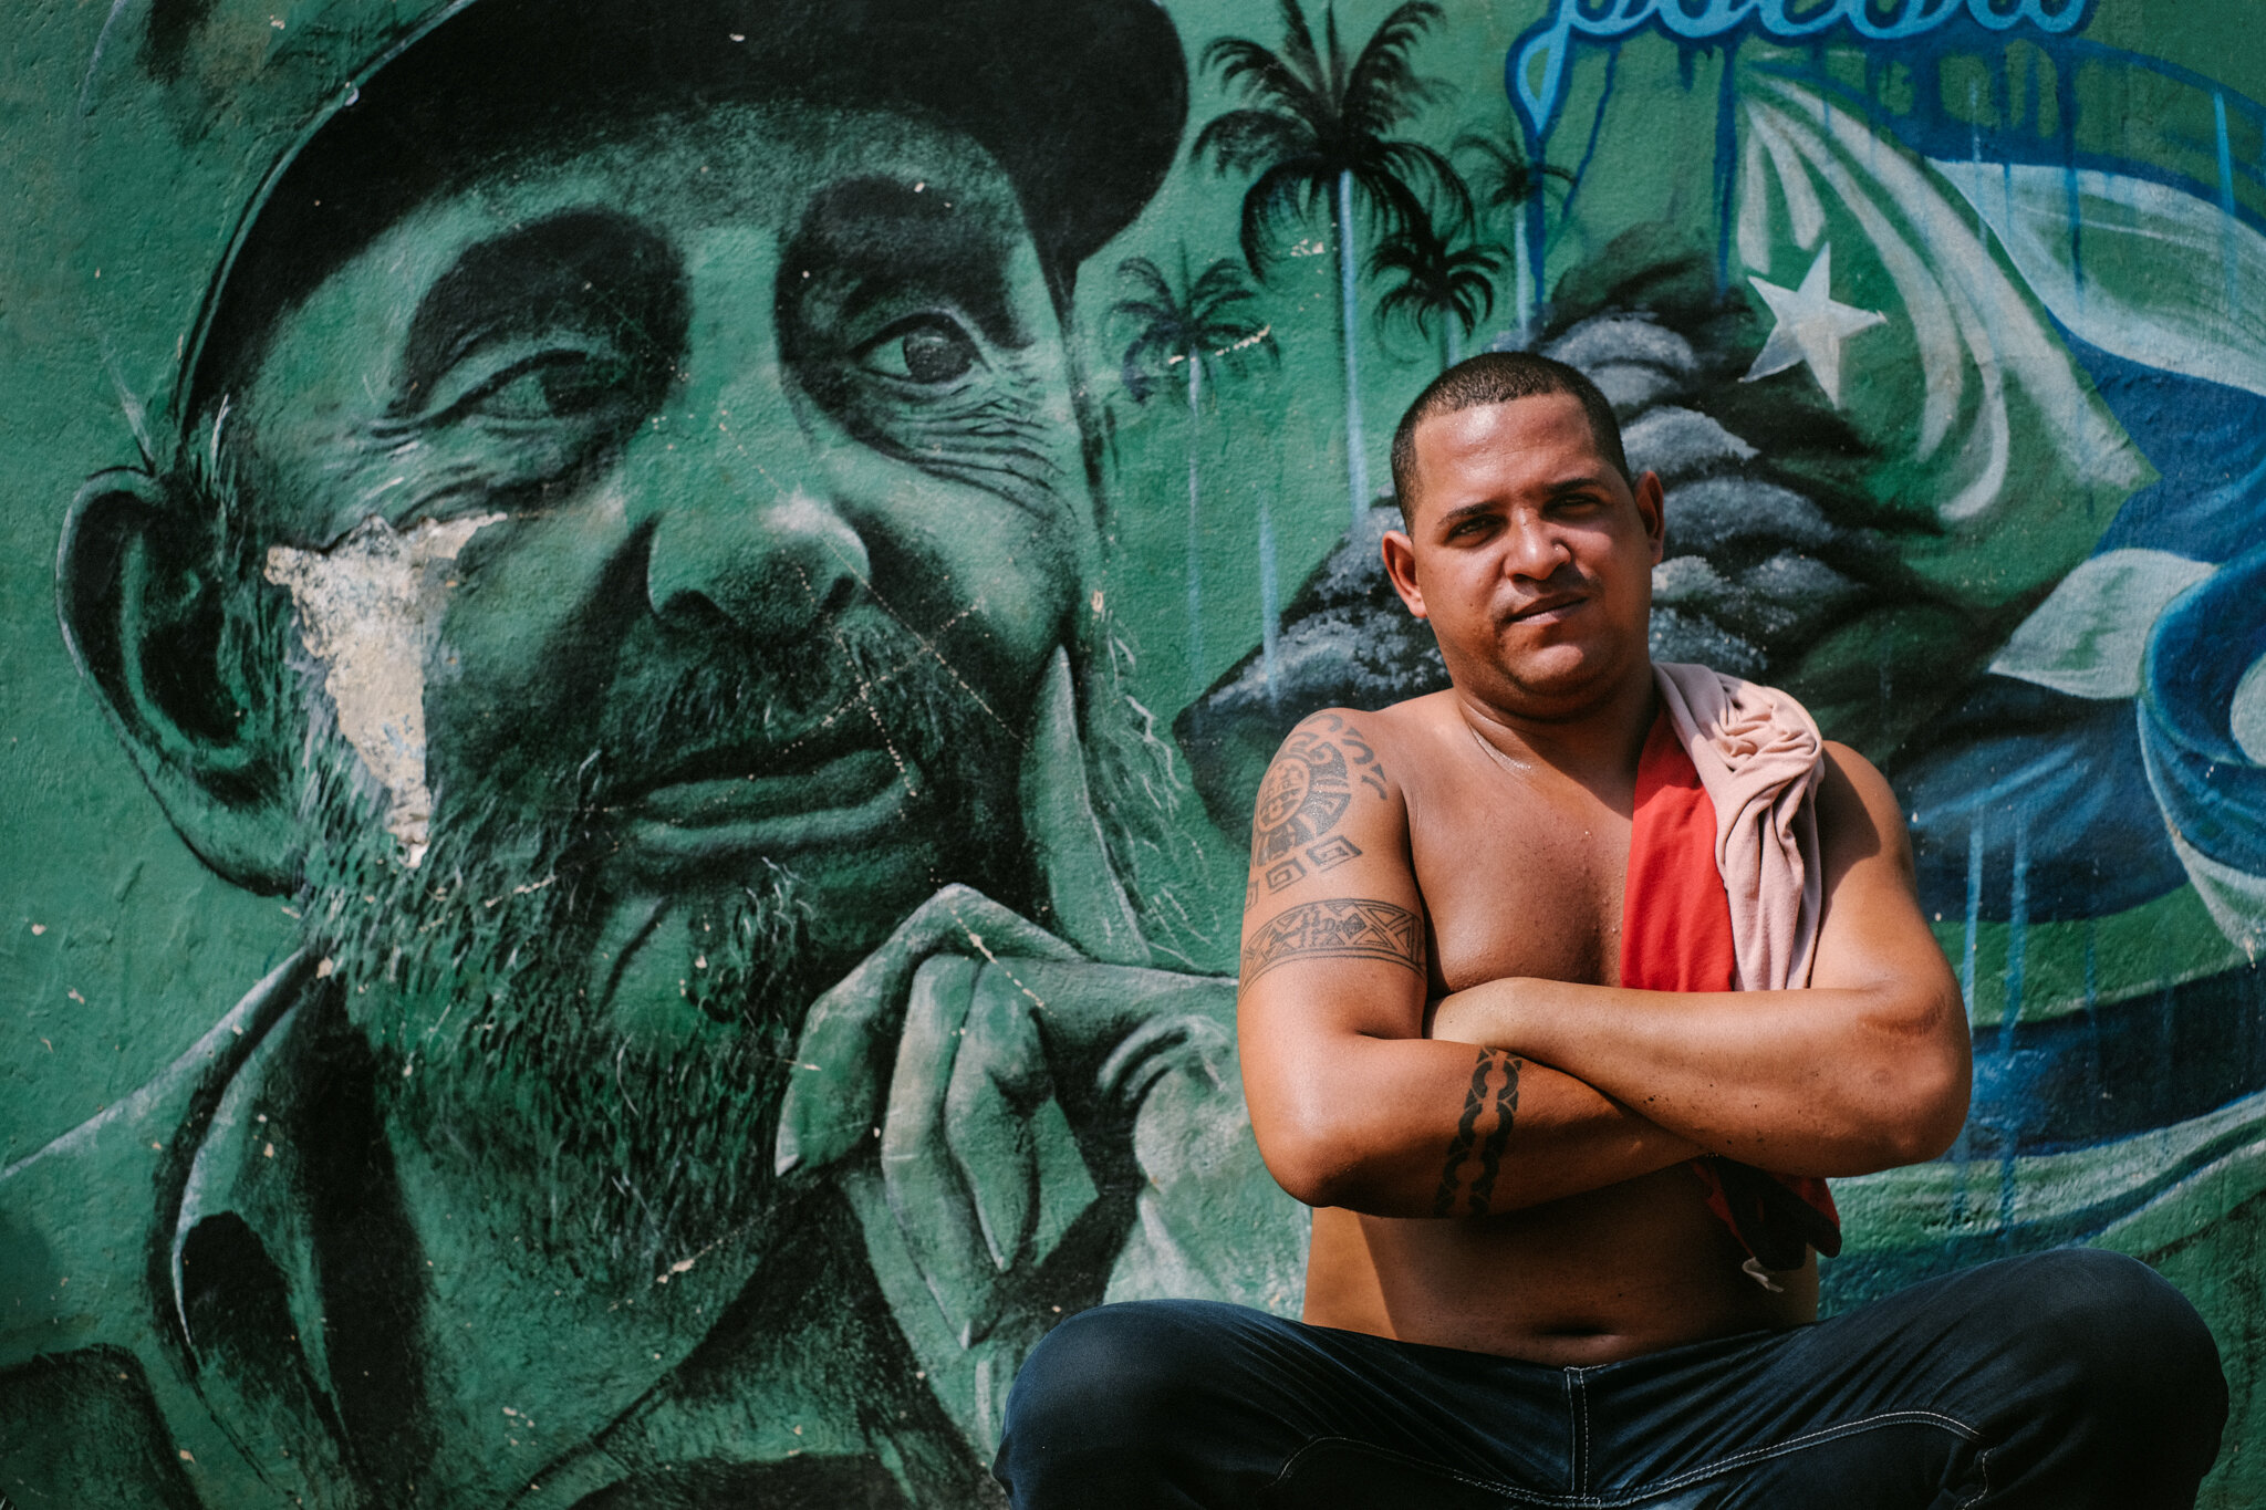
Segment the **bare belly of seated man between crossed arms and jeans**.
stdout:
<svg viewBox="0 0 2266 1510">
<path fill-rule="evenodd" d="M 1817 1318 L 1817 1266 L 1765 1290 L 1688 1168 L 1468 1220 L 1314 1211 L 1305 1320 L 1586 1365 Z"/>
</svg>

